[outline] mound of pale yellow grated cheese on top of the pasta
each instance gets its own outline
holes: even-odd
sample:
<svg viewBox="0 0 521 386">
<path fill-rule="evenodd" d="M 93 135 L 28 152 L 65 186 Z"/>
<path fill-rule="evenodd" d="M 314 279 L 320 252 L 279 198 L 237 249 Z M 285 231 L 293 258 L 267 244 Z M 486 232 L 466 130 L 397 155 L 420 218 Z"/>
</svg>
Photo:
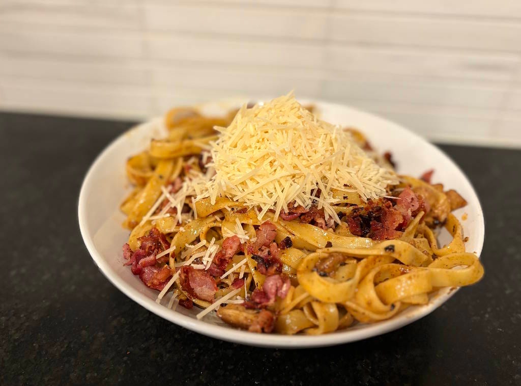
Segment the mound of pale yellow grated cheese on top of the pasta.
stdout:
<svg viewBox="0 0 521 386">
<path fill-rule="evenodd" d="M 331 204 L 332 189 L 357 192 L 363 200 L 386 195 L 398 183 L 391 170 L 379 166 L 349 132 L 317 119 L 293 93 L 253 108 L 242 106 L 230 126 L 212 143 L 215 175 L 200 180 L 197 199 L 218 196 L 260 207 L 258 217 L 272 209 L 275 220 L 288 204 L 324 208 L 326 219 L 339 222 Z M 346 186 L 344 186 L 346 184 Z M 204 186 L 203 186 L 204 185 Z M 320 197 L 315 197 L 317 187 Z"/>
</svg>

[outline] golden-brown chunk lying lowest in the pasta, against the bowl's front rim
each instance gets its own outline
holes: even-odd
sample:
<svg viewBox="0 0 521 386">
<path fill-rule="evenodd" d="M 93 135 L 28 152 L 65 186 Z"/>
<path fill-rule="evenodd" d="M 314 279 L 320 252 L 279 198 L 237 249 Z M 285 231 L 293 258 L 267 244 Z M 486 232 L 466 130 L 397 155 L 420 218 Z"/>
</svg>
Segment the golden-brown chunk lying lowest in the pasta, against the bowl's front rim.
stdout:
<svg viewBox="0 0 521 386">
<path fill-rule="evenodd" d="M 229 304 L 217 310 L 217 316 L 234 327 L 251 332 L 271 332 L 275 315 L 268 310 L 247 310 L 238 304 Z"/>
</svg>

